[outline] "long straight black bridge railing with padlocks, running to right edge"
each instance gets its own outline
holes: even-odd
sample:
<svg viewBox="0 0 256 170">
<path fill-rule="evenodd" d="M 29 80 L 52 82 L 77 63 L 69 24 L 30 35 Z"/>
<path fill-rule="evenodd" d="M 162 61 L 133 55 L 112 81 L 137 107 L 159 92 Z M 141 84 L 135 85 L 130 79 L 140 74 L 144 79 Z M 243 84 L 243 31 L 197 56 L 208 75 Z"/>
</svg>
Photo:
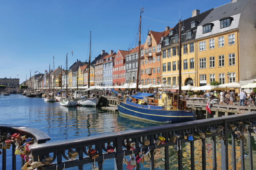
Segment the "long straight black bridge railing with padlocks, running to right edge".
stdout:
<svg viewBox="0 0 256 170">
<path fill-rule="evenodd" d="M 179 134 L 181 137 L 177 140 L 178 146 L 181 144 L 189 142 L 190 143 L 190 151 L 186 154 L 190 154 L 190 165 L 191 169 L 195 169 L 195 158 L 194 158 L 194 142 L 195 140 L 200 140 L 202 142 L 202 169 L 206 169 L 206 138 L 212 138 L 212 151 L 213 151 L 213 169 L 217 169 L 217 155 L 216 155 L 216 139 L 219 136 L 222 136 L 221 139 L 221 169 L 228 169 L 228 134 L 232 134 L 232 165 L 233 169 L 236 169 L 236 152 L 241 152 L 241 169 L 244 169 L 244 145 L 240 145 L 240 151 L 236 151 L 236 140 L 234 137 L 236 131 L 243 131 L 244 127 L 237 126 L 237 128 L 230 129 L 230 124 L 236 126 L 237 122 L 243 122 L 248 126 L 248 139 L 247 144 L 249 146 L 249 166 L 250 169 L 253 169 L 253 159 L 252 159 L 252 131 L 253 127 L 255 127 L 256 121 L 256 112 L 239 114 L 239 115 L 230 115 L 223 116 L 217 118 L 210 118 L 204 120 L 196 120 L 192 122 L 183 122 L 177 124 L 166 124 L 155 127 L 146 127 L 141 129 L 133 129 L 122 132 L 101 134 L 90 137 L 81 137 L 76 139 L 64 140 L 64 141 L 56 141 L 56 142 L 48 142 L 44 144 L 37 144 L 30 146 L 31 154 L 33 155 L 34 161 L 42 161 L 46 155 L 50 153 L 53 156 L 53 161 L 57 158 L 56 163 L 51 165 L 44 165 L 46 169 L 63 169 L 78 166 L 78 169 L 83 169 L 84 164 L 90 164 L 93 162 L 98 162 L 99 169 L 104 169 L 103 167 L 103 159 L 113 159 L 115 160 L 116 169 L 123 169 L 123 158 L 124 155 L 131 155 L 132 153 L 136 156 L 141 152 L 146 152 L 150 149 L 151 158 L 150 158 L 150 168 L 155 168 L 155 159 L 154 159 L 154 149 L 163 148 L 164 147 L 164 166 L 165 169 L 169 169 L 169 146 L 177 145 L 177 142 L 170 139 L 173 134 Z M 251 122 L 251 123 L 250 123 Z M 191 132 L 196 134 L 196 132 L 202 131 L 206 132 L 207 127 L 218 128 L 218 126 L 222 126 L 224 129 L 220 132 L 215 133 L 207 133 L 204 137 L 196 138 L 194 135 L 194 139 L 192 141 L 188 141 L 184 139 L 182 136 L 186 132 Z M 244 125 L 243 125 L 244 126 Z M 155 141 L 159 136 L 165 138 L 165 144 L 155 145 Z M 198 137 L 198 136 L 197 136 Z M 142 139 L 148 139 L 149 145 L 142 146 Z M 125 151 L 126 145 L 125 140 L 135 142 L 135 150 L 133 151 Z M 243 143 L 243 139 L 239 139 L 241 143 Z M 107 153 L 106 144 L 113 145 L 113 149 L 115 152 Z M 99 157 L 96 159 L 91 159 L 88 157 L 89 153 L 87 152 L 88 148 L 95 148 Z M 76 159 L 70 159 L 66 156 L 66 151 L 75 150 L 78 153 L 78 157 Z M 125 151 L 125 152 L 124 152 Z M 182 154 L 184 150 L 179 149 L 178 151 L 178 169 L 182 169 Z M 38 160 L 39 159 L 39 160 Z M 64 159 L 64 160 L 63 160 Z M 124 164 L 125 165 L 125 164 Z M 125 165 L 126 166 L 126 165 Z M 136 169 L 139 169 L 140 163 L 137 163 Z"/>
</svg>

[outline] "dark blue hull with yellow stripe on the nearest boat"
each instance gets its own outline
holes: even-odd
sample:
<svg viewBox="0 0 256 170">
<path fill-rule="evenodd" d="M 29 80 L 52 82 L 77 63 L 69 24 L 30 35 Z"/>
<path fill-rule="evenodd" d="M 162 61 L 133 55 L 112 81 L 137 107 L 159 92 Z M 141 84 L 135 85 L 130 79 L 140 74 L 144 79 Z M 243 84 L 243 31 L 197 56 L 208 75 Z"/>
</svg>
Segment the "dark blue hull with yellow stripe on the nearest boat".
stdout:
<svg viewBox="0 0 256 170">
<path fill-rule="evenodd" d="M 117 103 L 121 115 L 157 123 L 180 123 L 196 120 L 193 110 L 157 110 Z"/>
</svg>

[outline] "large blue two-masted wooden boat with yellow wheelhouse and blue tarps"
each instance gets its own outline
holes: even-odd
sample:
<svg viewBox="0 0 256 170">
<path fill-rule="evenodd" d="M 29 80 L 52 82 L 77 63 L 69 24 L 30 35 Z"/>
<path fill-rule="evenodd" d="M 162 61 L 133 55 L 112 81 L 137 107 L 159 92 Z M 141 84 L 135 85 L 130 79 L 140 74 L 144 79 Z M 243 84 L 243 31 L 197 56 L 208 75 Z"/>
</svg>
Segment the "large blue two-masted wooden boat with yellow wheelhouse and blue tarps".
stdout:
<svg viewBox="0 0 256 170">
<path fill-rule="evenodd" d="M 138 50 L 138 71 L 137 71 L 137 81 L 136 81 L 136 92 L 137 95 L 132 95 L 130 97 L 124 98 L 122 94 L 118 94 L 114 89 L 112 92 L 118 94 L 117 97 L 117 108 L 121 115 L 150 121 L 158 123 L 179 123 L 188 122 L 196 120 L 195 112 L 190 109 L 186 109 L 186 101 L 181 95 L 181 69 L 179 70 L 179 92 L 178 89 L 171 91 L 165 91 L 158 93 L 158 105 L 148 105 L 148 99 L 145 97 L 154 96 L 150 93 L 140 93 L 138 92 L 139 87 L 139 70 L 140 70 L 140 33 L 141 33 L 141 13 L 144 8 L 140 9 L 140 26 L 139 26 L 139 50 Z M 181 26 L 181 20 L 179 22 Z M 180 38 L 180 63 L 181 63 L 181 36 Z M 163 81 L 166 83 L 166 80 Z"/>
</svg>

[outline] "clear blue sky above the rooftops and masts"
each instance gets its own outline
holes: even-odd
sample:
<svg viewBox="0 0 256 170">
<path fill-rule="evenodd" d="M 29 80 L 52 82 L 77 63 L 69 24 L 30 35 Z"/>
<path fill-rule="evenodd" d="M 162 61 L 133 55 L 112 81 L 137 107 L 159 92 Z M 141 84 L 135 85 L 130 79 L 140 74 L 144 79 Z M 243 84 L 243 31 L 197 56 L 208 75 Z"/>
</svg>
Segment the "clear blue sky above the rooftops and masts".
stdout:
<svg viewBox="0 0 256 170">
<path fill-rule="evenodd" d="M 206 3 L 207 2 L 207 3 Z M 101 50 L 127 50 L 134 40 L 133 33 L 144 7 L 145 17 L 166 22 L 178 22 L 192 16 L 195 9 L 200 12 L 229 3 L 230 0 L 182 0 L 182 1 L 1 1 L 0 2 L 0 78 L 17 78 L 25 81 L 34 71 L 49 70 L 76 59 L 88 61 L 90 30 L 92 31 L 92 60 Z M 142 43 L 149 30 L 161 32 L 164 23 L 142 18 Z M 136 34 L 136 33 L 135 33 Z M 133 38 L 132 38 L 133 36 Z M 132 44 L 132 43 L 131 43 Z M 133 47 L 135 43 L 133 44 Z"/>
</svg>

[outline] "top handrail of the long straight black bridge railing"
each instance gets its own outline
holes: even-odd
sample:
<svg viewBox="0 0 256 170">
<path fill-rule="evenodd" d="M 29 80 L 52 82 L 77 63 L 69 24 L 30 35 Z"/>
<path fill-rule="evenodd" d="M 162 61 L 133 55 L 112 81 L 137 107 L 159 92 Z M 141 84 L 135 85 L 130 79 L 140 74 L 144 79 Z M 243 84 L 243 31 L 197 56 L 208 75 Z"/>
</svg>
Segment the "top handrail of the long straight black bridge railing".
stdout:
<svg viewBox="0 0 256 170">
<path fill-rule="evenodd" d="M 256 118 L 256 112 L 202 119 L 202 120 L 196 120 L 191 122 L 159 125 L 154 127 L 125 130 L 121 132 L 107 133 L 107 134 L 95 135 L 90 137 L 80 137 L 76 139 L 68 139 L 63 141 L 37 144 L 37 145 L 30 146 L 30 151 L 32 152 L 32 154 L 33 152 L 36 154 L 44 154 L 44 153 L 49 153 L 49 150 L 51 152 L 65 150 L 64 149 L 65 147 L 71 147 L 71 148 L 83 147 L 85 143 L 87 143 L 86 145 L 102 144 L 103 140 L 105 143 L 107 143 L 107 142 L 116 141 L 116 138 L 128 139 L 128 138 L 134 138 L 136 137 L 136 135 L 138 135 L 138 137 L 143 136 L 142 134 L 153 135 L 153 134 L 164 133 L 169 131 L 178 131 L 178 130 L 184 129 L 184 127 L 186 127 L 186 129 L 189 129 L 189 128 L 195 128 L 198 126 L 231 122 L 239 119 L 246 119 L 246 118 L 252 118 L 252 117 Z"/>
</svg>

